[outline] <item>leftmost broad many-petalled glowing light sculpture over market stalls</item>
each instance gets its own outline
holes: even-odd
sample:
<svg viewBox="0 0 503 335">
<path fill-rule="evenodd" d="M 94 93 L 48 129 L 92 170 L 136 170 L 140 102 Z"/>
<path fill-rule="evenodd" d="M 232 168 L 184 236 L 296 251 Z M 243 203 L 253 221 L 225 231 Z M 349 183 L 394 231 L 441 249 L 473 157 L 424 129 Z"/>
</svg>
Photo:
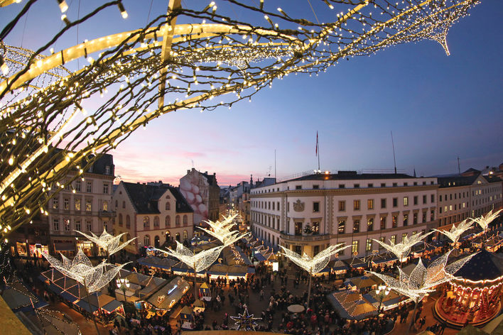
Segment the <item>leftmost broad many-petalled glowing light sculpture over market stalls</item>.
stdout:
<svg viewBox="0 0 503 335">
<path fill-rule="evenodd" d="M 61 254 L 63 261 L 50 256 L 48 253 L 42 253 L 42 255 L 46 260 L 48 260 L 50 265 L 60 273 L 77 280 L 77 282 L 80 282 L 87 287 L 87 292 L 89 293 L 97 292 L 104 287 L 104 285 L 107 285 L 110 280 L 114 279 L 117 273 L 119 273 L 119 270 L 126 265 L 121 264 L 113 266 L 112 264 L 105 263 L 103 260 L 102 263 L 92 266 L 91 261 L 87 258 L 87 256 L 85 256 L 85 253 L 82 252 L 81 248 L 79 248 L 79 251 L 73 260 L 69 260 L 63 256 L 63 254 Z M 107 270 L 108 267 L 112 267 L 112 269 Z"/>
</svg>

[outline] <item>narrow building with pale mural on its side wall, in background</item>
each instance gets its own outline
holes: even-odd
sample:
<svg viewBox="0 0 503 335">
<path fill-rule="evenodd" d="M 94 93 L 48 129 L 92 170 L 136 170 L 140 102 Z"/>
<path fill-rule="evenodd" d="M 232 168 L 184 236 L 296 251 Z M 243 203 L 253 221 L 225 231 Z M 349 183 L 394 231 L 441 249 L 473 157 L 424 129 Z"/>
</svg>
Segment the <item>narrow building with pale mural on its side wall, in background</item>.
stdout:
<svg viewBox="0 0 503 335">
<path fill-rule="evenodd" d="M 210 219 L 216 221 L 220 214 L 220 187 L 215 173 L 199 172 L 193 167 L 180 178 L 180 192 L 194 211 L 194 222 L 199 225 Z"/>
</svg>

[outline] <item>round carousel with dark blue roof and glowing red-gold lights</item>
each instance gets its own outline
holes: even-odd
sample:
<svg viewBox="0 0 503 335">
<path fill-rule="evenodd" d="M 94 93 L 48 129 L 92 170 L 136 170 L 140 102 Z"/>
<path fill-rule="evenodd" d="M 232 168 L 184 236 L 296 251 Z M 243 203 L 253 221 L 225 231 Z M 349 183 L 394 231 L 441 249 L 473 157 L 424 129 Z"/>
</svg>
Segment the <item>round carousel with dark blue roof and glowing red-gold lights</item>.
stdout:
<svg viewBox="0 0 503 335">
<path fill-rule="evenodd" d="M 482 326 L 502 309 L 503 256 L 482 250 L 460 268 L 435 304 L 450 326 Z"/>
</svg>

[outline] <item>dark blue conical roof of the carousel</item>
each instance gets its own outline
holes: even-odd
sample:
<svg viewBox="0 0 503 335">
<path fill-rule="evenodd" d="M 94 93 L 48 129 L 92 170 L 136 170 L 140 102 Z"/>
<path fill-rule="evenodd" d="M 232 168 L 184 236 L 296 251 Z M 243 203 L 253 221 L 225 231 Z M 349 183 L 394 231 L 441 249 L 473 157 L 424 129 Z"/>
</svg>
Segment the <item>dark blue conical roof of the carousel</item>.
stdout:
<svg viewBox="0 0 503 335">
<path fill-rule="evenodd" d="M 503 256 L 482 250 L 468 260 L 454 275 L 472 281 L 499 278 L 503 275 Z"/>
</svg>

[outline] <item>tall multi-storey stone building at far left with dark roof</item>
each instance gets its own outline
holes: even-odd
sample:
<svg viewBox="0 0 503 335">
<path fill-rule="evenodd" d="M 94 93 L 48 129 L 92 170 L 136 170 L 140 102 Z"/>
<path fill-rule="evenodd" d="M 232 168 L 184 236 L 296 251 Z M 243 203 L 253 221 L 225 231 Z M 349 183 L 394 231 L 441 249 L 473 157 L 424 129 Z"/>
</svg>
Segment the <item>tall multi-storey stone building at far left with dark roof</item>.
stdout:
<svg viewBox="0 0 503 335">
<path fill-rule="evenodd" d="M 70 172 L 60 182 L 63 188 L 49 200 L 49 249 L 73 256 L 75 251 L 82 248 L 87 256 L 98 256 L 102 251 L 75 231 L 86 234 L 92 232 L 98 236 L 103 229 L 112 233 L 115 216 L 112 209 L 112 155 L 100 155 L 82 177 L 75 179 L 76 175 L 77 171 Z"/>
</svg>

